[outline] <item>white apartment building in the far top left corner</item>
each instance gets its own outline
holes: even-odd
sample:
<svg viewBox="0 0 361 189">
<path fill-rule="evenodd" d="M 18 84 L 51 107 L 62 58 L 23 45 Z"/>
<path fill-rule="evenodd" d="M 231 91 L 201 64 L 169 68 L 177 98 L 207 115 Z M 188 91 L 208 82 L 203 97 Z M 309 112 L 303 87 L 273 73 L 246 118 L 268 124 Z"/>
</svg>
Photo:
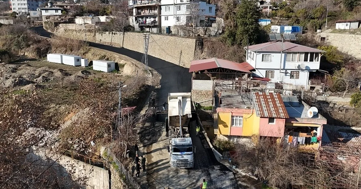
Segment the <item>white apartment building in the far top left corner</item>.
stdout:
<svg viewBox="0 0 361 189">
<path fill-rule="evenodd" d="M 17 12 L 18 14 L 28 14 L 31 10 L 36 10 L 40 5 L 46 4 L 46 1 L 38 0 L 11 0 L 10 8 L 12 12 Z"/>
</svg>

